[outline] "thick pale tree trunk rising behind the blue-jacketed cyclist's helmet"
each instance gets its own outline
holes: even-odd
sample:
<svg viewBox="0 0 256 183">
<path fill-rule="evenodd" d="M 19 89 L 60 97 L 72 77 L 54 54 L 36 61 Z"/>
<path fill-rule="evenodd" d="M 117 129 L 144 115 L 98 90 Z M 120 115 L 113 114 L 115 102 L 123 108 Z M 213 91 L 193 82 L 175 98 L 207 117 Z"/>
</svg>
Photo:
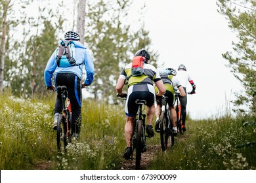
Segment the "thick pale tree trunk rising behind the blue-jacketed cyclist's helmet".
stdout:
<svg viewBox="0 0 256 183">
<path fill-rule="evenodd" d="M 86 0 L 79 0 L 77 5 L 77 33 L 80 35 L 80 42 L 85 42 L 85 3 Z"/>
</svg>

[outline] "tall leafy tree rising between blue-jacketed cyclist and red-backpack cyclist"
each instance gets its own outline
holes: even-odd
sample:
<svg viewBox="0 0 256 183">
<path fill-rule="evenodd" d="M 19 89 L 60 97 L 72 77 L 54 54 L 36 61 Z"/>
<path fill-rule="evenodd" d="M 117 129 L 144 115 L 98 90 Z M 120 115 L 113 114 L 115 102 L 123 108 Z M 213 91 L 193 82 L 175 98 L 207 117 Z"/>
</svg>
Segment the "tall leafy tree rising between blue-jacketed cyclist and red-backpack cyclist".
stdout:
<svg viewBox="0 0 256 183">
<path fill-rule="evenodd" d="M 148 48 L 151 42 L 143 25 L 132 32 L 130 25 L 125 24 L 130 0 L 91 3 L 88 5 L 85 33 L 95 64 L 95 80 L 91 89 L 95 100 L 102 99 L 108 103 L 116 97 L 114 86 L 121 69 L 137 50 Z"/>
</svg>

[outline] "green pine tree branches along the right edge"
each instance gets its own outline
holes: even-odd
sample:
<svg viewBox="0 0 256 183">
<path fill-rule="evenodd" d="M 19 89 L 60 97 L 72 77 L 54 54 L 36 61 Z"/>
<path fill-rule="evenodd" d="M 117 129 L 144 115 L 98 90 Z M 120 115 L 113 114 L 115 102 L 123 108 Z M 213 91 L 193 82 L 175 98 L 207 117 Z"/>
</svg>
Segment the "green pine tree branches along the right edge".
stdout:
<svg viewBox="0 0 256 183">
<path fill-rule="evenodd" d="M 233 51 L 223 54 L 234 76 L 242 82 L 245 95 L 238 93 L 235 105 L 249 105 L 256 112 L 256 1 L 219 0 L 219 12 L 229 20 L 229 27 L 238 34 Z"/>
</svg>

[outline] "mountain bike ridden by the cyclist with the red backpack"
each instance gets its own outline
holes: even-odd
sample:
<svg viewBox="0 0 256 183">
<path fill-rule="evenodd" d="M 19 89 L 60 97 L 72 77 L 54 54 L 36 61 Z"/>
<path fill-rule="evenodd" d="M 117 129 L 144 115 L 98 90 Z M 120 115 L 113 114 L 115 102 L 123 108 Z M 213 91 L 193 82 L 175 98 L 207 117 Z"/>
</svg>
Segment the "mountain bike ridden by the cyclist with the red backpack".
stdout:
<svg viewBox="0 0 256 183">
<path fill-rule="evenodd" d="M 118 94 L 117 97 L 119 97 Z M 123 100 L 126 100 L 126 98 Z M 144 107 L 146 106 L 146 100 L 137 99 L 135 103 L 139 105 L 139 109 L 137 112 L 136 123 L 133 128 L 131 147 L 133 152 L 136 149 L 135 167 L 136 169 L 140 169 L 141 154 L 142 152 L 146 152 L 146 114 L 143 113 L 144 109 L 142 109 L 143 105 Z M 131 159 L 133 159 L 133 154 L 131 155 Z"/>
</svg>

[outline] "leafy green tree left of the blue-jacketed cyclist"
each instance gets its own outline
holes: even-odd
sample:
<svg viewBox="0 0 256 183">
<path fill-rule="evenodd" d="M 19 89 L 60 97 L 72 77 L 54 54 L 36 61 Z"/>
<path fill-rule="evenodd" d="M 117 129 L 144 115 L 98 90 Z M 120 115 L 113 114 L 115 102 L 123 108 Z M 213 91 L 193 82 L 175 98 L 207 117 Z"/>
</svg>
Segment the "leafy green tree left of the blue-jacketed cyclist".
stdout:
<svg viewBox="0 0 256 183">
<path fill-rule="evenodd" d="M 15 95 L 45 93 L 45 65 L 58 45 L 58 31 L 62 31 L 62 9 L 53 10 L 47 1 L 38 3 L 38 14 L 28 17 L 28 4 L 22 4 L 19 8 L 20 15 L 16 14 L 19 17 L 16 20 L 19 26 L 18 34 L 21 34 L 22 39 L 12 40 L 12 49 L 9 51 L 11 59 L 9 67 L 5 69 L 8 85 Z M 60 7 L 63 7 L 62 4 Z M 14 28 L 12 31 L 17 30 Z"/>
</svg>

